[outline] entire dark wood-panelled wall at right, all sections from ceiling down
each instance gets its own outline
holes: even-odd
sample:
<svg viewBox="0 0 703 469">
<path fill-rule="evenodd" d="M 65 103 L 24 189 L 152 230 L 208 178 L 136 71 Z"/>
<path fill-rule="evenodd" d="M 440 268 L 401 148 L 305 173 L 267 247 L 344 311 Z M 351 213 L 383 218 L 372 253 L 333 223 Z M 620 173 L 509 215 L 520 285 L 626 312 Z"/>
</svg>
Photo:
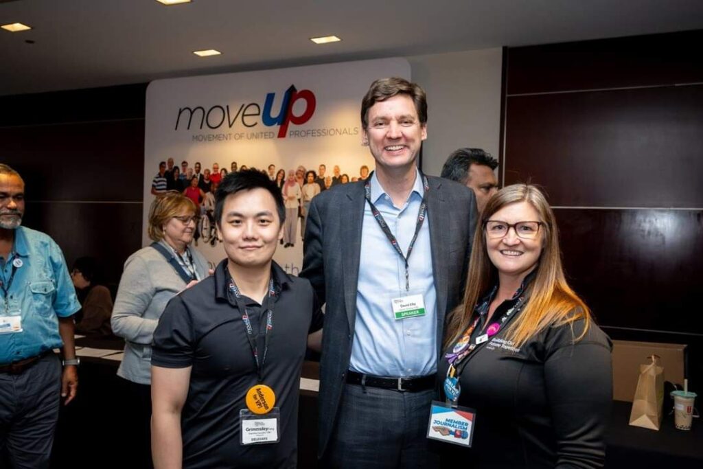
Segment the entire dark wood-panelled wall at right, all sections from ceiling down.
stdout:
<svg viewBox="0 0 703 469">
<path fill-rule="evenodd" d="M 504 184 L 548 192 L 614 339 L 688 345 L 703 383 L 703 31 L 509 48 Z M 589 208 L 593 207 L 593 208 Z"/>
</svg>

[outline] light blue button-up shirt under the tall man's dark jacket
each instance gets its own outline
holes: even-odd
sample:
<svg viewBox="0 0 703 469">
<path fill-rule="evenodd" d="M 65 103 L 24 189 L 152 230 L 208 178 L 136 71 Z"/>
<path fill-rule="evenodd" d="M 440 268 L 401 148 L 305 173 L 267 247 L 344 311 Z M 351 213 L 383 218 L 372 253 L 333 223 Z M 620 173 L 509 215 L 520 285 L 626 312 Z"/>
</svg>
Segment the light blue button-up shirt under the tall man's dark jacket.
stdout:
<svg viewBox="0 0 703 469">
<path fill-rule="evenodd" d="M 413 191 L 402 207 L 393 205 L 375 174 L 371 201 L 383 215 L 404 254 L 408 252 L 425 189 L 418 171 Z M 432 276 L 430 219 L 425 217 L 409 259 L 410 290 L 405 262 L 393 248 L 366 203 L 361 230 L 356 323 L 349 368 L 378 376 L 423 376 L 437 371 L 437 293 Z M 425 316 L 394 319 L 391 301 L 423 295 Z"/>
</svg>

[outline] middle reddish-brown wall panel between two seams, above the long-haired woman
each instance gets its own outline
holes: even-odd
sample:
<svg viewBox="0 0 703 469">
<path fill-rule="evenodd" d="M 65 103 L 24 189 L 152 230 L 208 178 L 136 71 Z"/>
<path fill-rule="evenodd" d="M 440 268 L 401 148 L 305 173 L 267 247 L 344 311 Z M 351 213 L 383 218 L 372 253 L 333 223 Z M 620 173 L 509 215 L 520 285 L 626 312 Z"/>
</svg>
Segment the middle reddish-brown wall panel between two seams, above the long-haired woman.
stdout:
<svg viewBox="0 0 703 469">
<path fill-rule="evenodd" d="M 554 205 L 703 207 L 703 85 L 511 96 L 505 184 Z"/>
</svg>

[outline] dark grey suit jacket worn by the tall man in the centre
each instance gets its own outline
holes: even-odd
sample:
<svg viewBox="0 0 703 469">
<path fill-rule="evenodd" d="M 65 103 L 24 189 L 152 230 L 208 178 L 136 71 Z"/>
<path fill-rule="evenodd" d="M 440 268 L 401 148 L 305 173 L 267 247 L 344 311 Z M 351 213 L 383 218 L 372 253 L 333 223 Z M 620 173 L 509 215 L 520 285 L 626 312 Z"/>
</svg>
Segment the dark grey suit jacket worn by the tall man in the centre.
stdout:
<svg viewBox="0 0 703 469">
<path fill-rule="evenodd" d="M 437 290 L 437 356 L 440 356 L 446 314 L 461 301 L 477 209 L 469 188 L 434 176 L 427 179 L 430 183 L 427 220 Z M 305 230 L 300 276 L 309 279 L 318 298 L 327 304 L 318 397 L 320 457 L 336 424 L 352 355 L 365 204 L 363 181 L 334 186 L 312 200 Z"/>
</svg>

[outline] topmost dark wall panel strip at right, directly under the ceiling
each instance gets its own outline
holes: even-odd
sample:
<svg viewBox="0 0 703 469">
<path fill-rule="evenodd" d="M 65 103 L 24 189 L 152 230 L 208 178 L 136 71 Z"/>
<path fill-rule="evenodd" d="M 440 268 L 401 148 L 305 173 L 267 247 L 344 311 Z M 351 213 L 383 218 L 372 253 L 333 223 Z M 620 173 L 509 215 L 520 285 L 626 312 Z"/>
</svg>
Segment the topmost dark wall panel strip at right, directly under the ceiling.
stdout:
<svg viewBox="0 0 703 469">
<path fill-rule="evenodd" d="M 703 82 L 703 31 L 510 49 L 508 94 Z"/>
</svg>

